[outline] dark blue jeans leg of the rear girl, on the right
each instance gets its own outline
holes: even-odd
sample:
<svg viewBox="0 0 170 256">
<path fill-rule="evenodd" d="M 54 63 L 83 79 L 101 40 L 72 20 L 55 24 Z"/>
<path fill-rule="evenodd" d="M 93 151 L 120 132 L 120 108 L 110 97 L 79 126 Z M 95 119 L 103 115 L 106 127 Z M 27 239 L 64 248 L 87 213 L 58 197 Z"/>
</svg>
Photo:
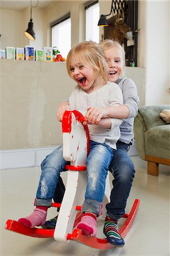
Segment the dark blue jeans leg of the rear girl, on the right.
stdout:
<svg viewBox="0 0 170 256">
<path fill-rule="evenodd" d="M 127 152 L 130 145 L 121 141 L 117 142 L 117 150 L 109 166 L 113 174 L 113 189 L 111 190 L 110 203 L 106 204 L 106 216 L 119 220 L 125 213 L 125 207 L 132 181 L 135 176 L 135 168 Z"/>
</svg>

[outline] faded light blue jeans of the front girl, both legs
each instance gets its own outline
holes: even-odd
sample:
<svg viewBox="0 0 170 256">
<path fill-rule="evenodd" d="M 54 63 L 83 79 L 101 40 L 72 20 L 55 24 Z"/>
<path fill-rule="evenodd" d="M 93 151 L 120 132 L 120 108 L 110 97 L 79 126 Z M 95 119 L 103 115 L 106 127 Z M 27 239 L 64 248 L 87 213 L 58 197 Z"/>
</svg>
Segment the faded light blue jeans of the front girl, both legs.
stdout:
<svg viewBox="0 0 170 256">
<path fill-rule="evenodd" d="M 105 180 L 113 149 L 106 144 L 90 141 L 90 154 L 87 159 L 87 187 L 84 212 L 99 214 L 105 193 Z M 63 146 L 56 148 L 42 162 L 42 175 L 36 193 L 35 205 L 51 207 L 60 172 L 66 171 L 67 161 L 63 158 Z"/>
</svg>

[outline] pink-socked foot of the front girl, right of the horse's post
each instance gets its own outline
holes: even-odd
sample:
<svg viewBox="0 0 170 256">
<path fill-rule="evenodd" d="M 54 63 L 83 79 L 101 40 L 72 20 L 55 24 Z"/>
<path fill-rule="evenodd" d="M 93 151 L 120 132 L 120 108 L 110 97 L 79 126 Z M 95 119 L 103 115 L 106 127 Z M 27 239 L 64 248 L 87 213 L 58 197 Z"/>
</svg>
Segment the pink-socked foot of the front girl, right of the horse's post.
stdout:
<svg viewBox="0 0 170 256">
<path fill-rule="evenodd" d="M 85 213 L 84 216 L 82 216 L 80 223 L 78 223 L 77 229 L 82 229 L 86 236 L 95 237 L 97 234 L 96 216 L 91 213 Z"/>
</svg>

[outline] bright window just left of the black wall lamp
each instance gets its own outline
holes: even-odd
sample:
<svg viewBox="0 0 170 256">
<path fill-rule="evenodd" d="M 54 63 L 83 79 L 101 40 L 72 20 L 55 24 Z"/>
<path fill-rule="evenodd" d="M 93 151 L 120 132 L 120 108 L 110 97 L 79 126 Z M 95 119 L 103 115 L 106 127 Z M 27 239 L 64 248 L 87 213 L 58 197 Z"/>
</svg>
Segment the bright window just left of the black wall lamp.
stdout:
<svg viewBox="0 0 170 256">
<path fill-rule="evenodd" d="M 86 40 L 99 43 L 99 3 L 98 1 L 86 7 Z"/>
</svg>

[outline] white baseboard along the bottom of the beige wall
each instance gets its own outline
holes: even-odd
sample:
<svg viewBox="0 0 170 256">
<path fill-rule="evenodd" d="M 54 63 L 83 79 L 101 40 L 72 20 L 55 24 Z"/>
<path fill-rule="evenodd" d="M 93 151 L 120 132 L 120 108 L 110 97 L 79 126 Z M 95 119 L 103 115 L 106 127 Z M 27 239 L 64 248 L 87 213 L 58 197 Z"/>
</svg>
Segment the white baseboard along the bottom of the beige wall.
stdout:
<svg viewBox="0 0 170 256">
<path fill-rule="evenodd" d="M 0 170 L 40 166 L 45 156 L 49 155 L 56 147 L 59 147 L 59 145 L 44 148 L 2 150 L 0 151 Z M 138 155 L 135 143 L 130 147 L 128 155 Z"/>
</svg>

